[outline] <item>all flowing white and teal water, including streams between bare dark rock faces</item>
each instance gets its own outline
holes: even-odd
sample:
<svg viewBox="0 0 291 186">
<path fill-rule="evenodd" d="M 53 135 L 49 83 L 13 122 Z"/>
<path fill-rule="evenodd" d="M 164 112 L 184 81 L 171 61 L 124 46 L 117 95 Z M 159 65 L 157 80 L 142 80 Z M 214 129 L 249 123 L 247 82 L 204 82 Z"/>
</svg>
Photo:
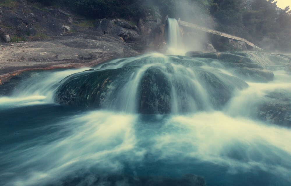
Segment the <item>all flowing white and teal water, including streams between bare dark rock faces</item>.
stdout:
<svg viewBox="0 0 291 186">
<path fill-rule="evenodd" d="M 175 59 L 179 57 L 171 58 Z M 232 82 L 226 75 L 241 78 L 219 60 L 195 60 L 201 64 L 195 70 L 212 72 L 227 86 Z M 275 71 L 268 83 L 247 81 L 248 88 L 234 89 L 222 109 L 214 109 L 197 73 L 169 56 L 114 59 L 94 69 L 129 64 L 140 67 L 116 93 L 119 110 L 55 103 L 61 80 L 90 68 L 32 72 L 11 96 L 0 97 L 0 185 L 110 185 L 98 182 L 99 177 L 130 175 L 137 180 L 140 175 L 195 174 L 208 186 L 290 186 L 291 129 L 254 115 L 267 93 L 291 92 L 290 72 Z M 142 75 L 156 66 L 173 69 L 166 73 L 176 87 L 171 113 L 139 114 L 136 95 Z M 186 90 L 178 91 L 182 85 L 197 91 L 202 110 Z M 188 96 L 184 113 L 178 99 L 182 93 Z M 124 179 L 115 185 L 130 182 Z"/>
</svg>

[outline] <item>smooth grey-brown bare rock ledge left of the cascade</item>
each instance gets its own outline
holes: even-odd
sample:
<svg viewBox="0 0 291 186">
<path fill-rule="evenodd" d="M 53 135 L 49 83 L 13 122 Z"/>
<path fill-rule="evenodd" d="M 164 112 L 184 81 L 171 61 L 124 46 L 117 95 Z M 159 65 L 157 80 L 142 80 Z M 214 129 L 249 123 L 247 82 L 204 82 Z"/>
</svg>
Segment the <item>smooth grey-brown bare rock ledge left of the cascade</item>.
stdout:
<svg viewBox="0 0 291 186">
<path fill-rule="evenodd" d="M 46 41 L 6 43 L 1 48 L 0 84 L 10 75 L 29 69 L 93 66 L 113 57 L 140 54 L 135 44 L 94 30 Z"/>
</svg>

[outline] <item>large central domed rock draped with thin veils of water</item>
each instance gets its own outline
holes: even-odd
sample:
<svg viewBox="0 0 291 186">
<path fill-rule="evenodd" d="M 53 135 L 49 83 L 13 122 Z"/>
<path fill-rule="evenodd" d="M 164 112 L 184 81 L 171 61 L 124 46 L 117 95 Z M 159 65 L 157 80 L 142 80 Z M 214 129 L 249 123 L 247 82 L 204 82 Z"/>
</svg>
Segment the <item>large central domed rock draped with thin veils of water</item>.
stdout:
<svg viewBox="0 0 291 186">
<path fill-rule="evenodd" d="M 173 100 L 177 100 L 177 109 L 183 113 L 210 108 L 221 109 L 230 100 L 234 90 L 248 87 L 246 82 L 237 77 L 219 71 L 204 70 L 200 68 L 201 62 L 190 58 L 172 57 L 169 60 L 176 65 L 191 68 L 194 76 L 175 72 L 169 64 L 167 68 L 153 65 L 139 72 L 144 65 L 155 64 L 158 60 L 159 58 L 145 57 L 119 66 L 124 61 L 121 59 L 104 64 L 100 70 L 73 74 L 65 78 L 59 86 L 56 101 L 60 104 L 117 110 L 124 110 L 130 102 L 136 104 L 139 113 L 165 114 L 172 111 Z M 118 68 L 114 68 L 115 65 Z M 104 68 L 108 69 L 102 70 Z M 137 73 L 139 75 L 134 78 L 138 79 L 134 80 L 133 85 L 131 78 Z M 187 74 L 187 71 L 184 73 Z M 129 98 L 125 96 L 131 92 L 134 95 Z M 207 98 L 203 98 L 205 94 Z M 136 100 L 130 101 L 134 97 Z"/>
</svg>

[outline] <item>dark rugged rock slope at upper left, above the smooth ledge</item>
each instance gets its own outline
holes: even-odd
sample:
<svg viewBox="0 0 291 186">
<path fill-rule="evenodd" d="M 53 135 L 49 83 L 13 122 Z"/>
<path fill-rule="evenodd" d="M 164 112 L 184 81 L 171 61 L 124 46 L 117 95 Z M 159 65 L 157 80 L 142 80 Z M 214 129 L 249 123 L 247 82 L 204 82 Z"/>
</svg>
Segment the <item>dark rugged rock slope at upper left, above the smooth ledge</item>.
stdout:
<svg viewBox="0 0 291 186">
<path fill-rule="evenodd" d="M 15 8 L 3 6 L 1 10 L 0 23 L 5 25 L 8 35 L 24 37 L 43 32 L 60 36 L 70 30 L 66 25 L 67 13 L 58 8 L 49 7 L 44 11 L 27 5 L 26 1 L 17 1 Z"/>
</svg>

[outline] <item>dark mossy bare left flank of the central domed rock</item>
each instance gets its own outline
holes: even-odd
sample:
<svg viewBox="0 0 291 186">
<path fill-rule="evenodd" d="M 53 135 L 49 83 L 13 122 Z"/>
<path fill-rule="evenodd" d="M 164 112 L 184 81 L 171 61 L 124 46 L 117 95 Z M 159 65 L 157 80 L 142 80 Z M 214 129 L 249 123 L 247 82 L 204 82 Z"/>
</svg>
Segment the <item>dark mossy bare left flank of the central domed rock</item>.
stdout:
<svg viewBox="0 0 291 186">
<path fill-rule="evenodd" d="M 129 73 L 130 69 L 127 67 L 73 74 L 63 80 L 63 84 L 57 90 L 56 101 L 60 104 L 89 108 L 108 106 L 112 99 L 116 99 L 114 92 L 117 91 L 110 90 L 110 86 L 113 86 L 114 82 L 116 89 L 121 89 L 126 83 L 126 79 L 122 79 L 121 75 Z M 112 96 L 110 92 L 113 93 Z"/>
</svg>

